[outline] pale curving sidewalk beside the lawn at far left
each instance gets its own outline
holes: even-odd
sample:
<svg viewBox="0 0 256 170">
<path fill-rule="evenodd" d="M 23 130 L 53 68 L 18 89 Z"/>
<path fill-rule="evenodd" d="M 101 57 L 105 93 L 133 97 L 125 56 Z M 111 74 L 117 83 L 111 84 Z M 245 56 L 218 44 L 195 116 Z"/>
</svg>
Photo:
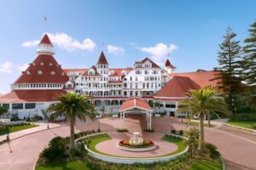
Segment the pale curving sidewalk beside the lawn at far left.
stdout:
<svg viewBox="0 0 256 170">
<path fill-rule="evenodd" d="M 47 130 L 47 122 L 32 122 L 32 124 L 38 125 L 38 127 L 32 127 L 32 128 L 28 128 L 25 130 L 20 130 L 15 133 L 9 133 L 9 139 L 13 140 L 13 139 L 20 138 L 21 136 L 24 136 L 26 134 L 36 133 L 39 131 Z M 49 123 L 49 128 L 61 127 L 61 126 L 65 126 L 65 125 L 66 124 L 63 122 Z M 7 139 L 7 134 L 0 136 L 0 141 L 3 141 L 4 139 Z"/>
</svg>

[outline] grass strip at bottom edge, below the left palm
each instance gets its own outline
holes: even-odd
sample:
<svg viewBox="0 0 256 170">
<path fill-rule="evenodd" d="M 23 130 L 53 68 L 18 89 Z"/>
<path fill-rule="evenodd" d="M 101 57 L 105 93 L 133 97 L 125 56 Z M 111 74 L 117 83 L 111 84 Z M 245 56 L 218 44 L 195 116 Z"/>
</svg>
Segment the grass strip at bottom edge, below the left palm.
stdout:
<svg viewBox="0 0 256 170">
<path fill-rule="evenodd" d="M 36 167 L 36 170 L 90 170 L 83 161 L 57 161 Z"/>
</svg>

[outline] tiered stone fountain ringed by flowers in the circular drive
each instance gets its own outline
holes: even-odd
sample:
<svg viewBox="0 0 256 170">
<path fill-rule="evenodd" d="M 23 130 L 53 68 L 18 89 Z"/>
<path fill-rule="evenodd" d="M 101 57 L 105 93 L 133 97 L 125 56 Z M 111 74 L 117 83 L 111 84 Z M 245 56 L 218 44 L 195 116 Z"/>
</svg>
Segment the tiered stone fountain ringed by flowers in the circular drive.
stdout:
<svg viewBox="0 0 256 170">
<path fill-rule="evenodd" d="M 119 141 L 117 147 L 127 151 L 147 151 L 154 150 L 157 146 L 152 140 L 139 138 L 140 133 L 134 132 L 133 138 Z"/>
</svg>

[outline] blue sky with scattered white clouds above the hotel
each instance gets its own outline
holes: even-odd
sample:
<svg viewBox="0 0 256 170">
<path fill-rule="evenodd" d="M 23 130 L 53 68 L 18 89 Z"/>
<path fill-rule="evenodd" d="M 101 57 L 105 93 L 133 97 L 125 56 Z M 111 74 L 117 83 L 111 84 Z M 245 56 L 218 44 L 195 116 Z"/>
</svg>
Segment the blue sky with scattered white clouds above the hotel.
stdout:
<svg viewBox="0 0 256 170">
<path fill-rule="evenodd" d="M 36 58 L 34 43 L 44 32 L 62 68 L 95 65 L 103 50 L 110 67 L 149 57 L 171 59 L 178 72 L 211 70 L 225 29 L 243 40 L 255 7 L 254 0 L 1 0 L 0 93 Z"/>
</svg>

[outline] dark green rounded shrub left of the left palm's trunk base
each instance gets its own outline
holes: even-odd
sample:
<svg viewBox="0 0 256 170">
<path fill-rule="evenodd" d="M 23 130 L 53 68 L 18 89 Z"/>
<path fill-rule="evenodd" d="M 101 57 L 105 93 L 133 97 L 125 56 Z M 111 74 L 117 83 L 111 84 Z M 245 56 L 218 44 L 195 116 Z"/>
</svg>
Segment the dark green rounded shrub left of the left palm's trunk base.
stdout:
<svg viewBox="0 0 256 170">
<path fill-rule="evenodd" d="M 65 143 L 61 137 L 55 137 L 49 141 L 48 148 L 45 148 L 40 156 L 44 156 L 47 161 L 54 161 L 65 156 Z"/>
</svg>

